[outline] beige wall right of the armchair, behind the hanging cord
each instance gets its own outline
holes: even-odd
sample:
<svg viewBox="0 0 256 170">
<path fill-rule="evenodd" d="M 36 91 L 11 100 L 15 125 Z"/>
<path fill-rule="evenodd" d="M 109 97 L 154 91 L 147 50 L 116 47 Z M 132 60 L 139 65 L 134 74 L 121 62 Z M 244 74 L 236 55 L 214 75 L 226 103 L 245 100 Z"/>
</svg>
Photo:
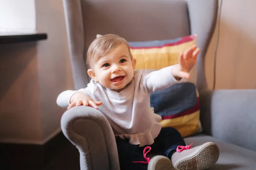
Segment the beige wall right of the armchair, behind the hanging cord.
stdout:
<svg viewBox="0 0 256 170">
<path fill-rule="evenodd" d="M 217 52 L 216 89 L 256 88 L 256 1 L 223 0 Z M 207 82 L 213 83 L 216 31 L 206 58 Z"/>
</svg>

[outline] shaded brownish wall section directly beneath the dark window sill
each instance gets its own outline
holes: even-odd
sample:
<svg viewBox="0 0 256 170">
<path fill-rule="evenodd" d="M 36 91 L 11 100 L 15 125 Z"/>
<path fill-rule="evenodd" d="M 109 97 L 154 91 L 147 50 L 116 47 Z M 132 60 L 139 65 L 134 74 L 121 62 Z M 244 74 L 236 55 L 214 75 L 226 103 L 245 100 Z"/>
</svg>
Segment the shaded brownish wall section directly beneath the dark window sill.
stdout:
<svg viewBox="0 0 256 170">
<path fill-rule="evenodd" d="M 36 43 L 0 45 L 0 142 L 40 143 Z"/>
</svg>

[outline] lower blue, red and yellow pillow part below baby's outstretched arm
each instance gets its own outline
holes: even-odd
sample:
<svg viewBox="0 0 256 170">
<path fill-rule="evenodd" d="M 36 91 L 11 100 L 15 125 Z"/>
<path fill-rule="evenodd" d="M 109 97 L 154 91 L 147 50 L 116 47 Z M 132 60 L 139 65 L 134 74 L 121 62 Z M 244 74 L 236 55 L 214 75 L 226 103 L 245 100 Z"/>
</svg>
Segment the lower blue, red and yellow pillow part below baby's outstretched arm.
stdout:
<svg viewBox="0 0 256 170">
<path fill-rule="evenodd" d="M 162 127 L 174 127 L 181 136 L 201 131 L 199 94 L 191 82 L 172 85 L 150 95 L 154 112 L 162 116 Z"/>
</svg>

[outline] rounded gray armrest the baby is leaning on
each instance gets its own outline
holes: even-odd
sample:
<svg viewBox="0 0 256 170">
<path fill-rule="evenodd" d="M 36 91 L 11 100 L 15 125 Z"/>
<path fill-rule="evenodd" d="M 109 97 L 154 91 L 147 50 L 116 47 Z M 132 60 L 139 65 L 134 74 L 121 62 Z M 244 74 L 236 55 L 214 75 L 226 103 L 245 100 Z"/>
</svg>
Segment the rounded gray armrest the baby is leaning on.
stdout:
<svg viewBox="0 0 256 170">
<path fill-rule="evenodd" d="M 79 150 L 81 170 L 119 170 L 113 130 L 100 111 L 73 107 L 62 115 L 61 129 Z"/>
</svg>

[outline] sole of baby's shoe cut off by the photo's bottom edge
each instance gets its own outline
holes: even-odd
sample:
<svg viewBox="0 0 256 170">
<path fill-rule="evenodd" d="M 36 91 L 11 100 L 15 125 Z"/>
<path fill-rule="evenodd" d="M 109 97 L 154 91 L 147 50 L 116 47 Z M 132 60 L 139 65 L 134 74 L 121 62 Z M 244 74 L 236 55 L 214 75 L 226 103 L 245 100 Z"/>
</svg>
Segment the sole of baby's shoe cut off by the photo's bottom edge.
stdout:
<svg viewBox="0 0 256 170">
<path fill-rule="evenodd" d="M 176 170 L 172 161 L 165 156 L 154 156 L 148 163 L 148 170 Z"/>
</svg>

